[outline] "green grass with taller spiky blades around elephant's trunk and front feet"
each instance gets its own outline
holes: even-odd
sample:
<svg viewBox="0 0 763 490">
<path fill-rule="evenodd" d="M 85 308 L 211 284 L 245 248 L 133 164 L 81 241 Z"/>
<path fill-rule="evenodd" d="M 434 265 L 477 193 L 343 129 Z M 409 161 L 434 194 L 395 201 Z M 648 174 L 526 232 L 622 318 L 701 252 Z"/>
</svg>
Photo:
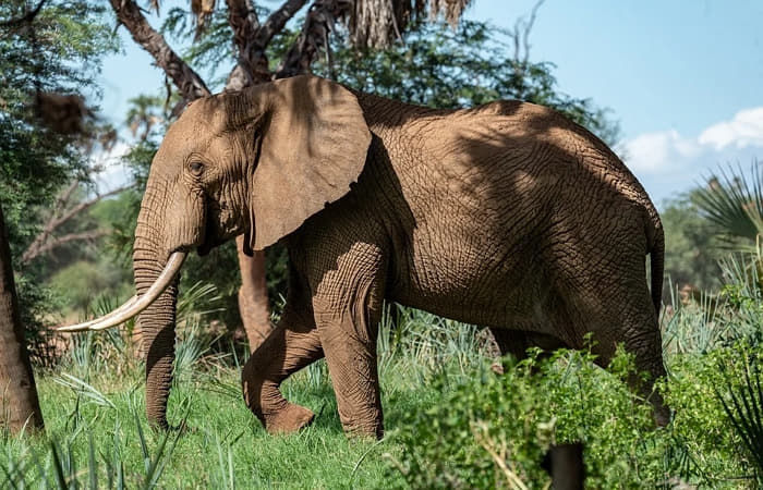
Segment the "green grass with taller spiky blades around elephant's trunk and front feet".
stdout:
<svg viewBox="0 0 763 490">
<path fill-rule="evenodd" d="M 443 324 L 434 330 L 452 327 L 455 335 L 411 335 L 405 342 L 407 356 L 392 354 L 399 346 L 396 334 L 419 329 L 421 322 L 434 318 L 413 317 L 397 333 L 390 333 L 389 317 L 385 317 L 380 344 L 389 355 L 382 356 L 379 372 L 388 428 L 399 427 L 407 414 L 436 403 L 439 393 L 427 380 L 443 368 L 438 359 L 456 353 L 455 347 L 468 351 L 471 360 L 457 355 L 449 363 L 453 373 L 468 372 L 467 363 L 480 362 L 474 329 L 445 320 L 436 320 Z M 282 387 L 290 401 L 317 414 L 314 424 L 295 434 L 270 436 L 243 402 L 238 368 L 243 359 L 205 355 L 201 344 L 207 342 L 197 334 L 196 324 L 186 322 L 169 401 L 170 424 L 185 425 L 186 430 L 165 433 L 148 427 L 143 365 L 134 360 L 134 347 L 123 336 L 84 334 L 60 367 L 37 372 L 46 433 L 4 436 L 0 481 L 11 488 L 61 488 L 62 481 L 66 488 L 93 488 L 94 482 L 97 488 L 148 488 L 157 482 L 161 488 L 396 485 L 388 462 L 400 457 L 401 445 L 395 437 L 378 442 L 348 440 L 324 360 Z M 467 333 L 459 333 L 464 330 Z M 444 342 L 456 343 L 429 363 L 415 362 Z M 401 477 L 397 478 L 401 485 Z"/>
</svg>

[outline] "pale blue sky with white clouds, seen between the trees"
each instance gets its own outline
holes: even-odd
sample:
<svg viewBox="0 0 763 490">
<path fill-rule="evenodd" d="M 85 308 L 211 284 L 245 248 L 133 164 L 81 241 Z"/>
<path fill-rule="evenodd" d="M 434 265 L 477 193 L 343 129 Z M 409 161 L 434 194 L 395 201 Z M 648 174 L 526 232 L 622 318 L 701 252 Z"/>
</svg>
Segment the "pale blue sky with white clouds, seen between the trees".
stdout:
<svg viewBox="0 0 763 490">
<path fill-rule="evenodd" d="M 510 27 L 534 3 L 475 0 L 467 16 Z M 659 203 L 719 164 L 763 160 L 761 26 L 759 0 L 546 0 L 531 59 L 557 65 L 562 91 L 611 109 L 623 131 L 617 149 Z M 114 122 L 130 97 L 164 84 L 122 35 L 125 53 L 102 73 L 101 108 Z"/>
</svg>

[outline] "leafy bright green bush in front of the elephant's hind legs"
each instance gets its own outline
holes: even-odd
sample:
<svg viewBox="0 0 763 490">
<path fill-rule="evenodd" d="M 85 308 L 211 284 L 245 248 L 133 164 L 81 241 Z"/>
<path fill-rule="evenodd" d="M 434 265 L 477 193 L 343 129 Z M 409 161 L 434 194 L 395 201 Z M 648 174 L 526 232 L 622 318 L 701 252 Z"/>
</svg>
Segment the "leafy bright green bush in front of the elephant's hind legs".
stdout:
<svg viewBox="0 0 763 490">
<path fill-rule="evenodd" d="M 549 444 L 582 442 L 589 488 L 738 488 L 751 482 L 750 465 L 716 392 L 719 363 L 744 348 L 675 359 L 661 384 L 676 411 L 667 428 L 625 382 L 634 368 L 622 351 L 608 370 L 590 353 L 559 351 L 506 359 L 502 376 L 439 377 L 441 399 L 405 417 L 390 467 L 412 488 L 545 488 Z"/>
</svg>

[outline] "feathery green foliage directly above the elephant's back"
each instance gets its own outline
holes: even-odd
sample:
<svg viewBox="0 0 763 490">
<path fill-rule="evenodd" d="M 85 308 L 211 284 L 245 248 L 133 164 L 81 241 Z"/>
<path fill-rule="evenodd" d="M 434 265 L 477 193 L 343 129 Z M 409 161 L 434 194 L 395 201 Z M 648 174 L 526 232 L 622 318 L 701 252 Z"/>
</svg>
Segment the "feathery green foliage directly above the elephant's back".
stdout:
<svg viewBox="0 0 763 490">
<path fill-rule="evenodd" d="M 358 50 L 342 37 L 334 42 L 331 64 L 314 72 L 361 91 L 434 108 L 474 107 L 520 99 L 564 112 L 609 145 L 619 125 L 591 99 L 562 94 L 550 62 L 529 62 L 509 54 L 506 33 L 488 23 L 462 20 L 412 26 L 403 42 L 386 49 Z"/>
</svg>

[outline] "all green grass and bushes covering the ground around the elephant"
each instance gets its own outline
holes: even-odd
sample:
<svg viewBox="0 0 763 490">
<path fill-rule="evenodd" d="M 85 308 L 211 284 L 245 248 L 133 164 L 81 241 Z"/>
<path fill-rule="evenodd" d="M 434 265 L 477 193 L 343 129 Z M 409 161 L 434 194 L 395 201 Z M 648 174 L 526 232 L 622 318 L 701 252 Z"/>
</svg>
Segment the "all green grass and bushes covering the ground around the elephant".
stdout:
<svg viewBox="0 0 763 490">
<path fill-rule="evenodd" d="M 741 307 L 763 311 L 759 298 L 747 299 Z M 59 367 L 38 371 L 46 434 L 4 436 L 5 485 L 545 488 L 543 454 L 567 441 L 584 443 L 590 488 L 749 488 L 760 476 L 743 431 L 722 403 L 744 418 L 743 403 L 735 408 L 741 399 L 730 394 L 744 393 L 747 381 L 750 400 L 761 401 L 754 389 L 762 352 L 746 334 L 740 340 L 747 330 L 727 321 L 738 323 L 738 303 L 719 307 L 710 321 L 698 304 L 666 318 L 670 376 L 662 389 L 676 414 L 662 429 L 623 382 L 632 375 L 625 353 L 606 371 L 584 352 L 560 351 L 548 359 L 531 353 L 519 363 L 504 359 L 505 373 L 497 375 L 475 328 L 392 307 L 379 341 L 387 434 L 378 442 L 346 438 L 323 362 L 284 385 L 287 397 L 318 414 L 314 425 L 296 434 L 267 434 L 241 399 L 244 359 L 232 350 L 207 350 L 193 306 L 181 304 L 183 339 L 170 400 L 170 420 L 183 429 L 147 427 L 143 365 L 126 335 L 88 333 Z M 693 329 L 724 333 L 698 343 Z M 747 381 L 744 372 L 752 375 Z"/>
</svg>

